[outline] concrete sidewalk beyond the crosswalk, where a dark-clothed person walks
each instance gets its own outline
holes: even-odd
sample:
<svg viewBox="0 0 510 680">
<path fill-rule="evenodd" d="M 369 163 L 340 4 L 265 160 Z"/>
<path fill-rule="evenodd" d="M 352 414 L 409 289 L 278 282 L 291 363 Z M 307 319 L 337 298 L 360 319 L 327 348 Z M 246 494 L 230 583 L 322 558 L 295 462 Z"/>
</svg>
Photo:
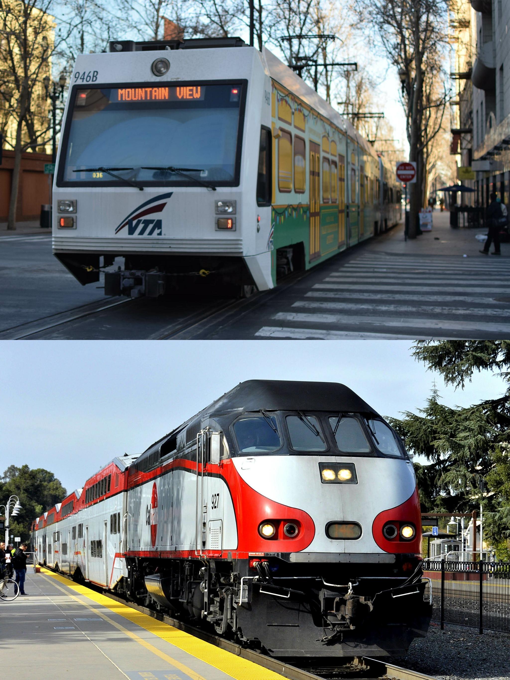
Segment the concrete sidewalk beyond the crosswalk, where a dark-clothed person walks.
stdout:
<svg viewBox="0 0 510 680">
<path fill-rule="evenodd" d="M 405 241 L 404 226 L 401 224 L 384 237 L 373 239 L 369 244 L 370 250 L 403 255 L 486 257 L 479 253 L 479 250 L 483 248 L 483 242 L 477 241 L 475 237 L 477 234 L 486 235 L 487 228 L 452 229 L 449 226 L 449 212 L 446 210 L 444 212 L 434 211 L 432 216 L 432 231 L 424 231 L 421 236 L 417 236 L 412 241 L 409 239 Z M 492 250 L 494 250 L 493 246 L 491 246 Z M 510 243 L 501 244 L 501 257 L 510 257 Z"/>
</svg>

